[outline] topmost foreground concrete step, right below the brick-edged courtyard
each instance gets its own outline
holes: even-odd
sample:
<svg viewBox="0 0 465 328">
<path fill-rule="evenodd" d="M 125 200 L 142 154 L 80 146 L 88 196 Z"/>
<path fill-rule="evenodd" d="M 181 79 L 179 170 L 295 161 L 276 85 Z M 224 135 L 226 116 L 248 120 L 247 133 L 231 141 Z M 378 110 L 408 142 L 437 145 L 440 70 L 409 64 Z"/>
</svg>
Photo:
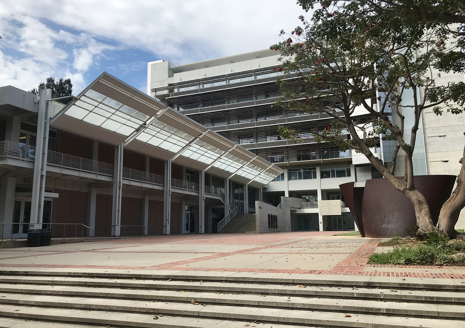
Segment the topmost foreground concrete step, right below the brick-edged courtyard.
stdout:
<svg viewBox="0 0 465 328">
<path fill-rule="evenodd" d="M 98 281 L 95 281 L 98 279 Z M 170 281 L 167 281 L 167 280 Z M 405 279 L 405 280 L 404 280 Z M 263 288 L 263 286 L 276 285 L 277 290 L 281 290 L 283 286 L 287 286 L 295 290 L 300 290 L 300 293 L 307 293 L 309 289 L 297 288 L 297 285 L 306 285 L 307 287 L 355 287 L 352 293 L 357 293 L 360 288 L 376 289 L 413 289 L 413 290 L 436 290 L 438 292 L 465 292 L 465 281 L 461 279 L 432 279 L 432 278 L 399 278 L 399 277 L 372 277 L 372 276 L 335 276 L 335 275 L 305 275 L 299 274 L 297 277 L 287 274 L 254 274 L 240 273 L 232 274 L 229 272 L 215 273 L 196 273 L 193 271 L 173 272 L 173 273 L 140 273 L 137 272 L 91 272 L 84 270 L 81 272 L 67 271 L 20 271 L 20 270 L 0 270 L 0 282 L 3 283 L 37 283 L 37 284 L 81 284 L 81 285 L 100 285 L 108 283 L 109 286 L 117 287 L 137 287 L 153 286 L 153 288 L 168 289 L 186 288 L 186 284 L 200 284 L 204 282 L 216 283 L 217 287 L 224 286 L 225 283 L 238 283 L 241 287 L 247 286 Z M 142 285 L 141 285 L 142 284 Z M 155 284 L 155 285 L 154 285 Z M 180 287 L 175 287 L 180 286 Z M 229 287 L 229 289 L 237 287 Z M 305 290 L 305 291 L 303 291 Z M 409 290 L 410 291 L 410 290 Z M 277 291 L 278 292 L 278 291 Z M 288 292 L 288 291 L 286 291 Z M 299 292 L 298 292 L 299 293 Z M 351 292 L 349 292 L 351 293 Z M 457 294 L 455 294 L 458 296 Z"/>
</svg>

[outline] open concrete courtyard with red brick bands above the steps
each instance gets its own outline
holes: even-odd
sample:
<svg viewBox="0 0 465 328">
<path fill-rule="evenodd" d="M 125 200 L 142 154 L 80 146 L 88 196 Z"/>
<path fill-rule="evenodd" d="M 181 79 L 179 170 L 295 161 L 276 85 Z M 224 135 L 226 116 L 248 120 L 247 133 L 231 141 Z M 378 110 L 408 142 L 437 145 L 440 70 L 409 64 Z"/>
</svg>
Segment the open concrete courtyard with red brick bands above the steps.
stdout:
<svg viewBox="0 0 465 328">
<path fill-rule="evenodd" d="M 381 239 L 333 233 L 158 235 L 2 249 L 0 268 L 465 279 L 465 267 L 366 264 Z"/>
</svg>

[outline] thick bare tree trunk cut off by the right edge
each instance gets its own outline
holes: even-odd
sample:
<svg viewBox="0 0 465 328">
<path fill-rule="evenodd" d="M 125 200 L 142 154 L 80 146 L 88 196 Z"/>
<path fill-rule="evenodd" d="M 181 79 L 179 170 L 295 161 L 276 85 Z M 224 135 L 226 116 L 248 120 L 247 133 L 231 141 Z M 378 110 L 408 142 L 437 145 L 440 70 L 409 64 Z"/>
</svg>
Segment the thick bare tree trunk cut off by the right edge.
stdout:
<svg viewBox="0 0 465 328">
<path fill-rule="evenodd" d="M 459 162 L 462 164 L 462 167 L 460 167 L 460 173 L 458 174 L 457 187 L 451 197 L 441 207 L 441 212 L 439 212 L 439 230 L 447 233 L 449 238 L 455 237 L 455 224 L 457 223 L 460 211 L 465 207 L 465 163 L 463 158 Z"/>
</svg>

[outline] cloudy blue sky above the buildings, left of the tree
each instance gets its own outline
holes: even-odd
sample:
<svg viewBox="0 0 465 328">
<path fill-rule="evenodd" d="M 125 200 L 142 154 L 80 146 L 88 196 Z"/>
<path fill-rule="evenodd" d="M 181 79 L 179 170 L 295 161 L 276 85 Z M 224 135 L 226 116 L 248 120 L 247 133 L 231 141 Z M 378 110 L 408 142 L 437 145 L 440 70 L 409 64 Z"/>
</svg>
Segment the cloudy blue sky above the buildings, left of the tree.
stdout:
<svg viewBox="0 0 465 328">
<path fill-rule="evenodd" d="M 146 92 L 147 62 L 187 64 L 268 48 L 305 12 L 296 0 L 1 0 L 0 86 L 103 71 Z"/>
</svg>

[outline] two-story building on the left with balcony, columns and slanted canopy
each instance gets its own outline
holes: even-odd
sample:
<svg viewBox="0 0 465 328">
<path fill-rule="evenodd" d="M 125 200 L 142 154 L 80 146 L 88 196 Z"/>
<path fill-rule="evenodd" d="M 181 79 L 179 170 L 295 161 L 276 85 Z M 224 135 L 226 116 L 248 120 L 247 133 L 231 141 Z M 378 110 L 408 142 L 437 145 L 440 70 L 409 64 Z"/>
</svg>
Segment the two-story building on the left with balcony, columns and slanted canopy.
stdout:
<svg viewBox="0 0 465 328">
<path fill-rule="evenodd" d="M 0 87 L 0 238 L 215 232 L 283 172 L 107 73 L 50 92 Z"/>
</svg>

